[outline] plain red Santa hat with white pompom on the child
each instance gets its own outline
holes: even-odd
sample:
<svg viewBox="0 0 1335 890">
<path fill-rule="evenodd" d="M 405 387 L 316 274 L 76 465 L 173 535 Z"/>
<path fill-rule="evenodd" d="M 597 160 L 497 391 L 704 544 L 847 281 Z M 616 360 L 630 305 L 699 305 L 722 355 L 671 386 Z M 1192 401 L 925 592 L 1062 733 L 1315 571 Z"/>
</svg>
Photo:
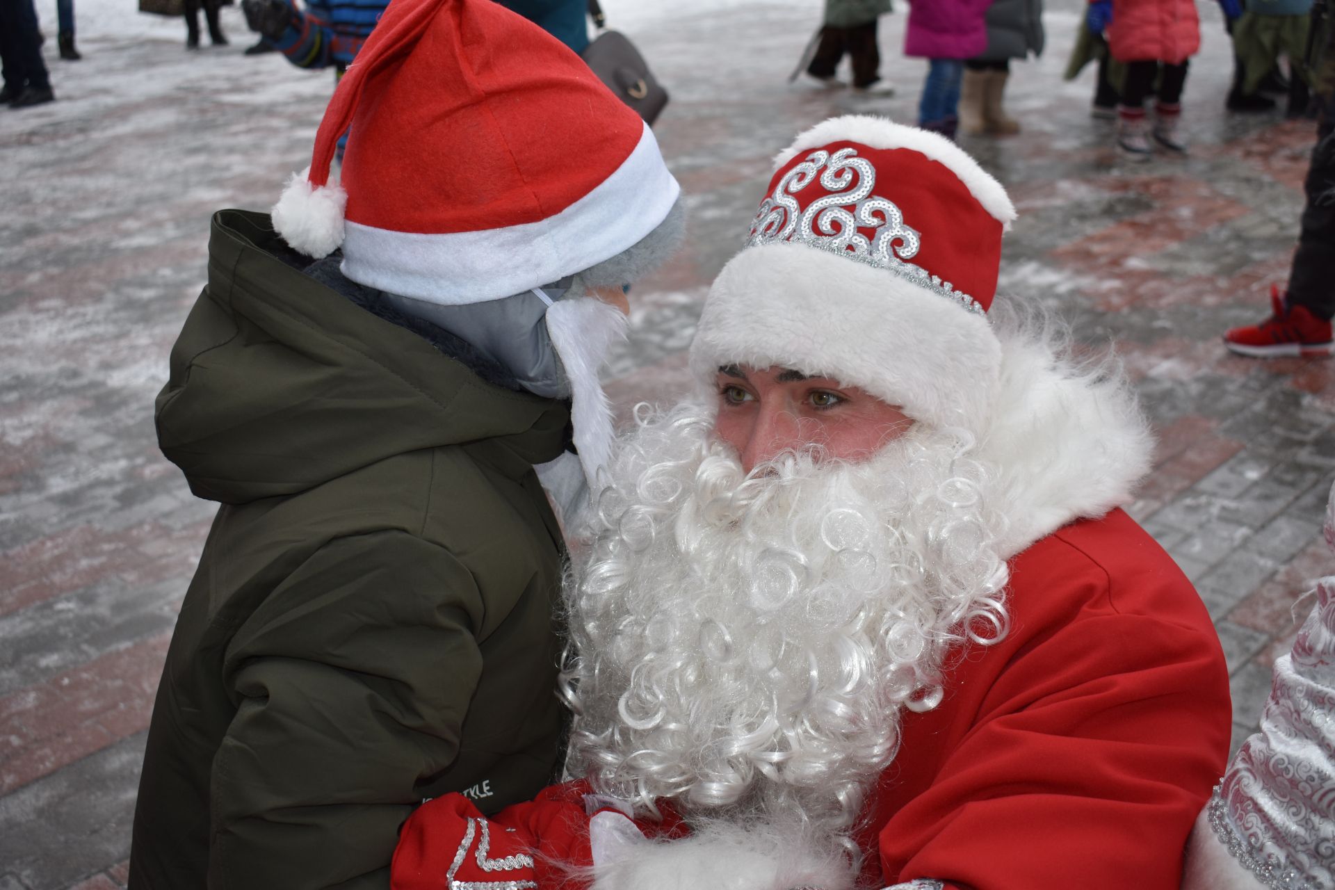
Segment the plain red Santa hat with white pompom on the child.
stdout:
<svg viewBox="0 0 1335 890">
<path fill-rule="evenodd" d="M 303 254 L 342 247 L 354 282 L 462 304 L 621 254 L 678 192 L 653 132 L 545 31 L 491 0 L 394 0 L 272 216 Z"/>
</svg>

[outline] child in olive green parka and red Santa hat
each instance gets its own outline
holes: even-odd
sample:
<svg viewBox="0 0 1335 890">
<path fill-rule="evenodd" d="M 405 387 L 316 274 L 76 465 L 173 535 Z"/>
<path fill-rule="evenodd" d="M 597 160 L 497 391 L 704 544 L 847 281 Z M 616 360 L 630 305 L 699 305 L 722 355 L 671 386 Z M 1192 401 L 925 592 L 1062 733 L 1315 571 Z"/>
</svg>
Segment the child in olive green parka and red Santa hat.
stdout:
<svg viewBox="0 0 1335 890">
<path fill-rule="evenodd" d="M 479 63 L 497 45 L 515 68 Z M 482 95 L 451 104 L 463 75 Z M 383 889 L 423 799 L 494 813 L 561 770 L 545 483 L 578 507 L 597 474 L 607 303 L 680 238 L 677 183 L 578 57 L 486 0 L 396 0 L 327 115 L 319 173 L 355 119 L 343 185 L 215 215 L 158 398 L 163 454 L 219 510 L 148 731 L 134 890 Z M 423 177 L 441 155 L 470 163 Z M 346 238 L 322 246 L 331 193 Z"/>
</svg>

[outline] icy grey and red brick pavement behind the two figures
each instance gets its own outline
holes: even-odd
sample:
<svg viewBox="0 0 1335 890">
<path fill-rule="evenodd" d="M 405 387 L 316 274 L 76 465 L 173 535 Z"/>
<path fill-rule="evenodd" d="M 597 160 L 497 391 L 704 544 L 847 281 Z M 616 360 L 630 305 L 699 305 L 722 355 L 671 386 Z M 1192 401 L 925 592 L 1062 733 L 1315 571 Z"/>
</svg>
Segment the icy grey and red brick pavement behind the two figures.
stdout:
<svg viewBox="0 0 1335 890">
<path fill-rule="evenodd" d="M 158 454 L 152 400 L 204 280 L 208 217 L 264 208 L 306 165 L 332 88 L 251 43 L 184 51 L 184 25 L 132 0 L 76 0 L 84 60 L 45 47 L 59 101 L 0 111 L 0 890 L 124 882 L 144 727 L 175 612 L 212 515 Z M 609 371 L 623 408 L 670 398 L 705 288 L 740 246 L 769 157 L 833 113 L 912 121 L 924 63 L 882 19 L 890 99 L 789 85 L 820 0 L 605 0 L 673 101 L 655 127 L 688 192 L 684 254 L 631 294 Z M 1335 363 L 1230 356 L 1220 332 L 1266 312 L 1287 274 L 1308 121 L 1230 119 L 1230 45 L 1200 3 L 1185 91 L 1191 155 L 1129 165 L 1088 116 L 1092 71 L 1063 83 L 1080 0 L 1048 0 L 1049 47 L 1016 65 L 1025 131 L 971 139 L 1021 217 L 1001 296 L 1109 342 L 1160 436 L 1132 507 L 1196 582 L 1230 658 L 1235 742 L 1255 725 L 1290 606 L 1331 571 Z M 55 4 L 40 0 L 48 35 Z"/>
</svg>

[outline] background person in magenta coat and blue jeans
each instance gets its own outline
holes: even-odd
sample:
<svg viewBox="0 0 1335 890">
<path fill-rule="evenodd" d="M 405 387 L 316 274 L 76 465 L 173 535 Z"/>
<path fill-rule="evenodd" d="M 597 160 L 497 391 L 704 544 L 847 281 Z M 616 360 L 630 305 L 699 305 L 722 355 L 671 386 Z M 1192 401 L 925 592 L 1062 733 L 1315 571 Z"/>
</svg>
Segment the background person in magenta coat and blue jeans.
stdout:
<svg viewBox="0 0 1335 890">
<path fill-rule="evenodd" d="M 928 60 L 918 127 L 955 139 L 964 60 L 988 45 L 984 16 L 992 0 L 913 0 L 904 55 Z"/>
</svg>

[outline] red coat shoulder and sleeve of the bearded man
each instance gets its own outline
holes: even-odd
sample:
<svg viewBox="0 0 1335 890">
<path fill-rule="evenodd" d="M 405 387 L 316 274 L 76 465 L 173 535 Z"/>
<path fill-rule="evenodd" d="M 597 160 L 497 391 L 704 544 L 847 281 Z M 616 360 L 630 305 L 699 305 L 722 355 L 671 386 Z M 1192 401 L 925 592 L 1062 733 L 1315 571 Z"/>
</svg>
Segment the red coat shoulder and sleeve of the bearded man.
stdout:
<svg viewBox="0 0 1335 890">
<path fill-rule="evenodd" d="M 1125 512 L 1016 556 L 1009 635 L 906 714 L 860 841 L 868 886 L 1176 890 L 1231 707 L 1191 582 Z"/>
</svg>

